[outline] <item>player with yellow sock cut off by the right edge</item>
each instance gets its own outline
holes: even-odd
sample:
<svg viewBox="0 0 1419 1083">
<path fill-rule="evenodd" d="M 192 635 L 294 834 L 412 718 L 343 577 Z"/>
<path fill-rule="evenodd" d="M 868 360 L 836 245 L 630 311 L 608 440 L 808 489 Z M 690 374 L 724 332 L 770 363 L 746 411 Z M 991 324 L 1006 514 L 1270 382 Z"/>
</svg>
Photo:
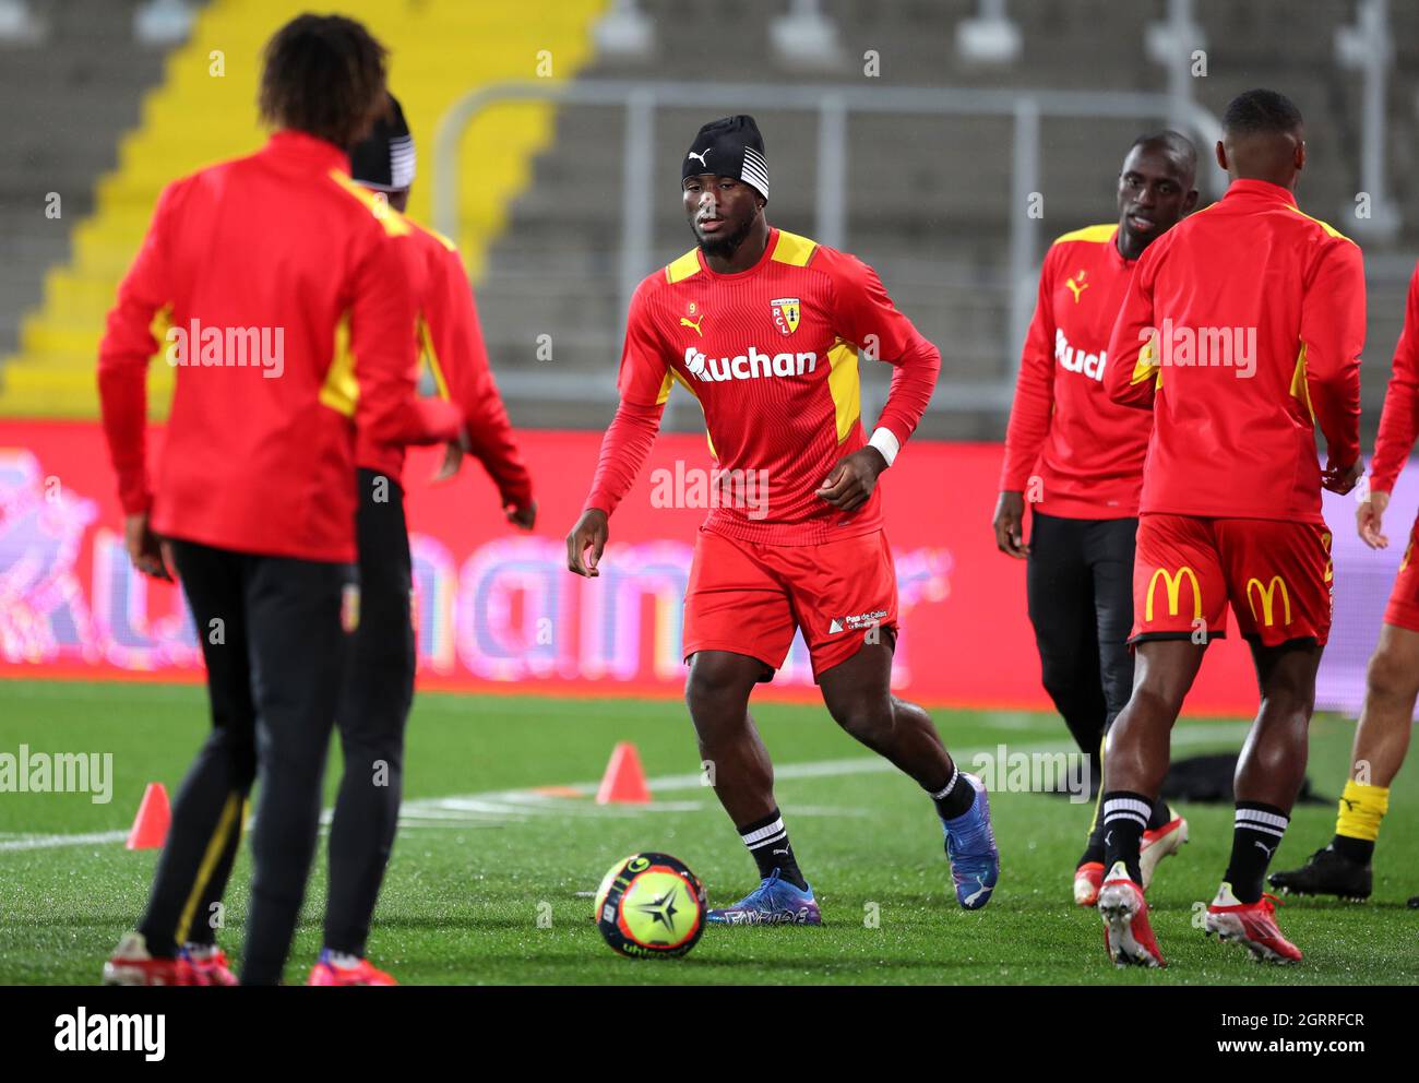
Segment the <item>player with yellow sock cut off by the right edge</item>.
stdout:
<svg viewBox="0 0 1419 1083">
<path fill-rule="evenodd" d="M 1393 372 L 1385 409 L 1379 416 L 1375 457 L 1369 464 L 1369 495 L 1355 512 L 1361 539 L 1384 549 L 1385 508 L 1399 471 L 1419 436 L 1419 265 L 1409 280 L 1405 328 L 1395 346 Z M 1419 697 L 1419 519 L 1409 532 L 1409 545 L 1399 562 L 1399 575 L 1389 593 L 1379 643 L 1369 659 L 1365 703 L 1359 708 L 1349 778 L 1340 799 L 1335 836 L 1300 869 L 1273 873 L 1271 886 L 1296 894 L 1332 894 L 1368 898 L 1371 857 L 1379 837 L 1379 823 L 1389 810 L 1389 785 L 1409 751 L 1415 698 Z M 1410 900 L 1419 906 L 1419 898 Z"/>
</svg>

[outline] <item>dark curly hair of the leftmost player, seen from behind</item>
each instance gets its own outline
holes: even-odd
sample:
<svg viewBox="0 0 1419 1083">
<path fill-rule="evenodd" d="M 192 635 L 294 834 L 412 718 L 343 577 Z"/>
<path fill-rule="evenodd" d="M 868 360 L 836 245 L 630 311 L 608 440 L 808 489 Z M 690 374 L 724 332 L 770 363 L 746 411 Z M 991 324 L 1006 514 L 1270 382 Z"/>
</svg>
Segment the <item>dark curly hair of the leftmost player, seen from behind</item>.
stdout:
<svg viewBox="0 0 1419 1083">
<path fill-rule="evenodd" d="M 385 108 L 379 41 L 345 16 L 297 16 L 265 47 L 261 116 L 348 148 Z"/>
</svg>

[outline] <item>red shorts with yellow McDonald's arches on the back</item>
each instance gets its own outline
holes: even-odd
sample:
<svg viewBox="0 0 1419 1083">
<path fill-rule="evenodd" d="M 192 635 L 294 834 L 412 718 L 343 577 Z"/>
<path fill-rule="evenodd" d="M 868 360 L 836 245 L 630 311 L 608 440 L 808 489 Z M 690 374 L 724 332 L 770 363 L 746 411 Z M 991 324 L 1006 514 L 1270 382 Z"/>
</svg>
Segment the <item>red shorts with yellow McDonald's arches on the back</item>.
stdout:
<svg viewBox="0 0 1419 1083">
<path fill-rule="evenodd" d="M 1130 643 L 1226 634 L 1227 602 L 1243 637 L 1324 646 L 1331 625 L 1331 534 L 1324 522 L 1138 519 Z"/>
</svg>

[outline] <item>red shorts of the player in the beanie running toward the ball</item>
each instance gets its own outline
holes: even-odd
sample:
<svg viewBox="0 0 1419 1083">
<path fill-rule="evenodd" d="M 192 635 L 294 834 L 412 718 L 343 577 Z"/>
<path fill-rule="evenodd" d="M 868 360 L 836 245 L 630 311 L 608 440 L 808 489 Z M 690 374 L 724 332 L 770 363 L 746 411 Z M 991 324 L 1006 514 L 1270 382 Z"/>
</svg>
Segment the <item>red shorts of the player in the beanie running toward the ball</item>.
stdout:
<svg viewBox="0 0 1419 1083">
<path fill-rule="evenodd" d="M 763 545 L 701 528 L 685 590 L 685 660 L 729 650 L 776 670 L 795 629 L 803 629 L 815 680 L 853 657 L 870 634 L 895 632 L 897 571 L 885 532 Z"/>
</svg>

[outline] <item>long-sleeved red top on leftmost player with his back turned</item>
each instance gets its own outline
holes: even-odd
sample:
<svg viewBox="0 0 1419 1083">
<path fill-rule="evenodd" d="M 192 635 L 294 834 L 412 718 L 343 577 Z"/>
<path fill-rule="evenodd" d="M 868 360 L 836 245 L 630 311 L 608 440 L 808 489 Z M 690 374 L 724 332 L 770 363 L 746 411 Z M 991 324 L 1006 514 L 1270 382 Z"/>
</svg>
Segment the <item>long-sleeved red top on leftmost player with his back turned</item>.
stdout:
<svg viewBox="0 0 1419 1083">
<path fill-rule="evenodd" d="M 458 412 L 416 400 L 409 227 L 349 179 L 349 159 L 282 131 L 169 185 L 99 346 L 104 430 L 126 512 L 238 552 L 355 559 L 355 429 L 455 439 Z M 149 480 L 146 369 L 176 389 Z"/>
</svg>

